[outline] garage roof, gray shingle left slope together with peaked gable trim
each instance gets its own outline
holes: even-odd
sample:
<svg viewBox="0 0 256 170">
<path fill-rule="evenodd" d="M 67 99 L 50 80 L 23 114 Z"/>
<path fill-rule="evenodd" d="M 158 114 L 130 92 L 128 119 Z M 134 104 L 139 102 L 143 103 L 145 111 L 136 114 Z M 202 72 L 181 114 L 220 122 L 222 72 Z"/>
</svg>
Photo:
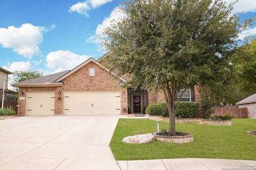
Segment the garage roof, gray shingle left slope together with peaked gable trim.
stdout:
<svg viewBox="0 0 256 170">
<path fill-rule="evenodd" d="M 11 85 L 14 86 L 14 87 L 24 87 L 24 86 L 43 87 L 43 86 L 62 85 L 61 81 L 63 79 L 67 78 L 69 75 L 73 74 L 74 72 L 81 69 L 83 66 L 85 66 L 86 64 L 88 64 L 90 62 L 94 62 L 95 64 L 99 65 L 102 69 L 105 69 L 106 71 L 110 72 L 110 70 L 107 69 L 107 67 L 103 66 L 98 61 L 94 60 L 93 58 L 89 58 L 84 63 L 78 65 L 77 67 L 75 67 L 71 71 L 63 71 L 63 72 L 59 72 L 59 73 L 45 75 L 43 77 L 34 78 L 34 79 L 30 79 L 30 80 L 25 80 L 25 81 L 21 81 L 21 82 L 18 82 L 18 83 L 11 84 Z M 117 76 L 117 74 L 112 72 L 112 71 L 110 72 L 110 74 L 113 74 L 114 76 Z M 124 81 L 124 82 L 127 81 L 126 79 L 124 79 L 122 77 L 119 77 L 119 79 Z"/>
</svg>

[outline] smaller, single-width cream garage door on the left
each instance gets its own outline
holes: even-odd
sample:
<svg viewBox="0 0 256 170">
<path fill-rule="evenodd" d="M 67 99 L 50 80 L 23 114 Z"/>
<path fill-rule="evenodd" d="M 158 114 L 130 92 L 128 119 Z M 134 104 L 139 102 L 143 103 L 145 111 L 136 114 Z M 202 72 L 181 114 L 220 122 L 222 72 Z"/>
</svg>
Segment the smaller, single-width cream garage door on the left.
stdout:
<svg viewBox="0 0 256 170">
<path fill-rule="evenodd" d="M 27 92 L 26 115 L 54 115 L 54 92 Z"/>
</svg>

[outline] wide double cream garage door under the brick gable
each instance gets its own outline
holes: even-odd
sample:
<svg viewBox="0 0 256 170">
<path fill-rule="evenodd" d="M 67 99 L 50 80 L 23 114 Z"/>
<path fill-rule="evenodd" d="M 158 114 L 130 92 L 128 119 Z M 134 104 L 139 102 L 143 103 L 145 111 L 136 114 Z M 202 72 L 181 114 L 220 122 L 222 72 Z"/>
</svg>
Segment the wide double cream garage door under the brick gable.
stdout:
<svg viewBox="0 0 256 170">
<path fill-rule="evenodd" d="M 66 91 L 64 115 L 119 115 L 120 91 Z"/>
</svg>

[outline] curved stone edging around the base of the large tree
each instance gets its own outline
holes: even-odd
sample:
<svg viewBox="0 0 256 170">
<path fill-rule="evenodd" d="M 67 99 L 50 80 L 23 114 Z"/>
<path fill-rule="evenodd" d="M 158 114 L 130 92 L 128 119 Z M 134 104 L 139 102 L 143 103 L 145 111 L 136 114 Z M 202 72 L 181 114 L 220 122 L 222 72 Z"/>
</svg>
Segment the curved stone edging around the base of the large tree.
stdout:
<svg viewBox="0 0 256 170">
<path fill-rule="evenodd" d="M 189 143 L 194 141 L 194 135 L 188 134 L 183 136 L 164 136 L 156 134 L 156 140 L 170 143 Z"/>
</svg>

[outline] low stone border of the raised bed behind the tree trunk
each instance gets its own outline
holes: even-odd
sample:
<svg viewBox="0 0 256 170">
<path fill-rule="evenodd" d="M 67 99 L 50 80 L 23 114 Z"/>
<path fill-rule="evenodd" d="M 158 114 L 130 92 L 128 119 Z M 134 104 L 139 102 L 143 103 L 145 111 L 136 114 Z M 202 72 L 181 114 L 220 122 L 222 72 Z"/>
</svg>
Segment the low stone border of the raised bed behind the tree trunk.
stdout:
<svg viewBox="0 0 256 170">
<path fill-rule="evenodd" d="M 169 122 L 169 117 L 148 115 L 150 120 Z M 175 123 L 195 123 L 204 125 L 231 126 L 231 120 L 204 120 L 203 118 L 176 118 Z"/>
</svg>

